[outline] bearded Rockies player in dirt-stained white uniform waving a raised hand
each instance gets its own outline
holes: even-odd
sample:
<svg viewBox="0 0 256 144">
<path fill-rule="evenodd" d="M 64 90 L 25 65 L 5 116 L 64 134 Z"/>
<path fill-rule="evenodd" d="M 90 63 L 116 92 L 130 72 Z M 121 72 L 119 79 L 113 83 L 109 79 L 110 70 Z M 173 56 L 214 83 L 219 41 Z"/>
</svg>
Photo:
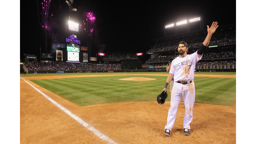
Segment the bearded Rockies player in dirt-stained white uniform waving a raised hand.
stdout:
<svg viewBox="0 0 256 144">
<path fill-rule="evenodd" d="M 188 55 L 188 45 L 181 41 L 177 44 L 179 57 L 175 58 L 170 66 L 169 75 L 167 77 L 163 91 L 167 91 L 167 85 L 174 78 L 174 84 L 171 92 L 171 105 L 168 111 L 167 124 L 165 125 L 166 136 L 170 135 L 174 125 L 177 109 L 181 98 L 183 97 L 185 105 L 185 115 L 183 120 L 184 135 L 190 134 L 190 123 L 193 119 L 193 106 L 195 102 L 195 84 L 194 69 L 196 63 L 202 58 L 203 52 L 208 47 L 212 35 L 218 28 L 218 23 L 213 22 L 211 27 L 207 25 L 207 36 L 203 45 L 195 53 Z"/>
</svg>

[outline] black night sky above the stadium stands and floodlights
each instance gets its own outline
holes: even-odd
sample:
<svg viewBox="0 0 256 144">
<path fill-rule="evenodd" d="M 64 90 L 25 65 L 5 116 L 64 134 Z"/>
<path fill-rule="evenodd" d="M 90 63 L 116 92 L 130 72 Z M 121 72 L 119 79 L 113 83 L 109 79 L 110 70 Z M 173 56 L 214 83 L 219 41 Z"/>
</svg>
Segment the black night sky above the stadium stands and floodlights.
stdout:
<svg viewBox="0 0 256 144">
<path fill-rule="evenodd" d="M 44 47 L 42 28 L 38 18 L 42 12 L 43 0 L 23 1 L 21 3 L 20 55 L 50 52 L 49 46 Z M 132 51 L 146 53 L 153 46 L 152 39 L 164 36 L 164 26 L 189 18 L 201 17 L 206 25 L 217 21 L 219 25 L 236 23 L 236 2 L 225 1 L 226 4 L 197 1 L 82 1 L 73 0 L 76 12 L 69 11 L 65 0 L 51 0 L 49 17 L 51 26 L 50 41 L 65 43 L 66 26 L 69 16 L 79 24 L 85 20 L 86 13 L 92 12 L 94 35 L 92 56 L 96 53 L 114 51 Z M 79 25 L 80 26 L 80 25 Z M 80 39 L 84 39 L 80 35 Z M 55 41 L 55 39 L 54 39 Z M 87 46 L 86 44 L 81 44 Z"/>
</svg>

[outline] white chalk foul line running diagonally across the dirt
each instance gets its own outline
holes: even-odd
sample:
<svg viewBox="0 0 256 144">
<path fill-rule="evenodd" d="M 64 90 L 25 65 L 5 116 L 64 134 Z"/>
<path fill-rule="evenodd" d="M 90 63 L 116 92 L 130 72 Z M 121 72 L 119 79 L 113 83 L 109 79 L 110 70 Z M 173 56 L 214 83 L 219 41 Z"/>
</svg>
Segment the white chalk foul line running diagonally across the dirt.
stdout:
<svg viewBox="0 0 256 144">
<path fill-rule="evenodd" d="M 22 78 L 22 77 L 20 77 Z M 22 78 L 23 79 L 23 78 Z M 23 79 L 25 82 L 27 82 L 25 79 Z M 32 84 L 30 84 L 29 82 L 27 82 L 29 85 L 31 85 L 34 89 L 36 89 L 39 93 L 41 93 L 43 96 L 45 96 L 49 101 L 51 101 L 53 104 L 55 104 L 57 107 L 59 107 L 61 110 L 63 110 L 65 113 L 67 113 L 69 116 L 71 116 L 73 119 L 75 119 L 77 122 L 79 122 L 80 124 L 82 124 L 84 127 L 86 127 L 88 130 L 90 130 L 91 132 L 93 132 L 96 136 L 98 136 L 100 139 L 107 141 L 110 144 L 117 144 L 116 142 L 114 142 L 112 139 L 110 139 L 109 137 L 107 137 L 106 135 L 104 135 L 103 133 L 99 132 L 98 130 L 96 130 L 94 127 L 88 127 L 88 124 L 83 121 L 82 119 L 80 119 L 79 117 L 77 117 L 76 115 L 72 114 L 70 111 L 68 111 L 67 109 L 65 109 L 64 107 L 62 107 L 60 104 L 58 104 L 57 102 L 55 102 L 54 100 L 52 100 L 50 97 L 48 97 L 46 94 L 44 94 L 43 92 L 41 92 L 39 89 L 37 89 L 36 87 L 34 87 Z"/>
</svg>

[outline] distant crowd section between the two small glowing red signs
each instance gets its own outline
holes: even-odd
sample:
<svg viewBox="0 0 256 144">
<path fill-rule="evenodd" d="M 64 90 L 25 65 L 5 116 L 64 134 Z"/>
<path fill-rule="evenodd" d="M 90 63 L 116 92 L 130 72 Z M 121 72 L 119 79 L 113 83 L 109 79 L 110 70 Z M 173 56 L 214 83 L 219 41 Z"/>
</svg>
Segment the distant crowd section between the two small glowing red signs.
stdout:
<svg viewBox="0 0 256 144">
<path fill-rule="evenodd" d="M 103 60 L 137 60 L 138 57 L 136 54 L 127 54 L 127 53 L 113 53 L 113 54 L 105 54 Z"/>
</svg>

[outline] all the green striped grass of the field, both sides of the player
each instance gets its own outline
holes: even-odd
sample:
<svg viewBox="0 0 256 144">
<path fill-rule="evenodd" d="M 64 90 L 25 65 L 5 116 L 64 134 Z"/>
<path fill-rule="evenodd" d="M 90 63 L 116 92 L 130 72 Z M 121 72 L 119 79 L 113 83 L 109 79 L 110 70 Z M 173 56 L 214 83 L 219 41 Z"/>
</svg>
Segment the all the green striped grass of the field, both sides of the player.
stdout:
<svg viewBox="0 0 256 144">
<path fill-rule="evenodd" d="M 62 79 L 39 79 L 32 82 L 79 105 L 94 105 L 115 102 L 156 101 L 165 84 L 167 76 L 146 76 L 135 74 L 168 74 L 167 72 L 127 72 L 127 73 L 57 73 L 57 74 L 20 74 L 27 76 L 57 75 L 102 75 L 133 74 L 107 77 L 80 77 Z M 198 72 L 195 74 L 235 75 L 233 72 Z M 130 77 L 154 78 L 150 81 L 119 80 Z M 196 103 L 207 103 L 232 106 L 236 101 L 235 78 L 195 77 Z M 169 88 L 169 87 L 168 87 Z M 170 101 L 170 91 L 167 89 Z"/>
</svg>

